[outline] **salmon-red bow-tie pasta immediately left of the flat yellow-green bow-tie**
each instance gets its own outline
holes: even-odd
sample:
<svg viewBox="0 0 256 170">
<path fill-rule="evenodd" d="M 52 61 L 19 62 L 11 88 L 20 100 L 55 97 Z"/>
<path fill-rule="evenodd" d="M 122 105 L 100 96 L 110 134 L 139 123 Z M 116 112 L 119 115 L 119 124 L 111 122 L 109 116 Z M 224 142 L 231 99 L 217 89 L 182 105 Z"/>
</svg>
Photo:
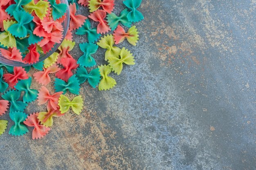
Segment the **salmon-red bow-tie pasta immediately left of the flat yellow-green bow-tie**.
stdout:
<svg viewBox="0 0 256 170">
<path fill-rule="evenodd" d="M 48 89 L 45 86 L 42 86 L 38 92 L 38 105 L 45 104 L 49 100 L 49 104 L 54 110 L 57 110 L 57 108 L 59 108 L 58 99 L 63 93 L 62 91 L 50 95 Z"/>
</svg>

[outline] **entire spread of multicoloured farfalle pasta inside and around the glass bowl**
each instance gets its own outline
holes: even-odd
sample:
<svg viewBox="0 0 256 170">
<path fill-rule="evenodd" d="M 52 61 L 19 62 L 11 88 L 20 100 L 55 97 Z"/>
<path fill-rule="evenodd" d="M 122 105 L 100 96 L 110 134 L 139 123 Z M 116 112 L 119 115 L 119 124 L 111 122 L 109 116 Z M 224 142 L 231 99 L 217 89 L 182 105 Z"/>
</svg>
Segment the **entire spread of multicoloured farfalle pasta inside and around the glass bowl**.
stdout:
<svg viewBox="0 0 256 170">
<path fill-rule="evenodd" d="M 31 126 L 34 127 L 32 139 L 43 138 L 50 132 L 49 126 L 53 126 L 53 117 L 63 116 L 68 111 L 77 115 L 82 113 L 81 84 L 92 88 L 98 86 L 99 91 L 109 90 L 117 84 L 111 74 L 120 75 L 125 65 L 135 64 L 135 57 L 120 43 L 127 39 L 130 44 L 136 45 L 139 40 L 137 28 L 132 24 L 143 19 L 137 11 L 141 0 L 124 0 L 127 8 L 119 16 L 113 13 L 114 0 L 67 2 L 69 5 L 62 4 L 61 0 L 0 1 L 1 55 L 33 64 L 24 68 L 0 64 L 0 115 L 9 113 L 14 121 L 9 130 L 11 135 L 24 135 L 28 132 L 27 126 Z M 78 15 L 77 10 L 81 6 L 88 7 L 91 13 L 88 16 Z M 70 9 L 70 24 L 64 38 L 62 22 L 67 8 Z M 87 38 L 79 43 L 82 54 L 76 56 L 77 59 L 70 53 L 77 49 L 73 33 Z M 47 53 L 61 41 L 57 51 L 38 62 L 40 53 Z M 99 48 L 106 49 L 104 56 L 97 55 Z M 103 57 L 108 65 L 97 65 L 94 56 L 97 60 Z M 30 70 L 34 70 L 32 77 Z M 50 74 L 55 77 L 53 86 L 49 84 L 53 81 Z M 32 83 L 41 85 L 40 89 L 30 88 Z M 69 95 L 74 97 L 70 99 Z M 46 105 L 47 108 L 26 115 L 28 103 L 35 99 L 38 105 Z M 6 126 L 7 121 L 0 120 L 0 135 Z"/>
</svg>

